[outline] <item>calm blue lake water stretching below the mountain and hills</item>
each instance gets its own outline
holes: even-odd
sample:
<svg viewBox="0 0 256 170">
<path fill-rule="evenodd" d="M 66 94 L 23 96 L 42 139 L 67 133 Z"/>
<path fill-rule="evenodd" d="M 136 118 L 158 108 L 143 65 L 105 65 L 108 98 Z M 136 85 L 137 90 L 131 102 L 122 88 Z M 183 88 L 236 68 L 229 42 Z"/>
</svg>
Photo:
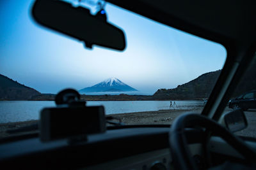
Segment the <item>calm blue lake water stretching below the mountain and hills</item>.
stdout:
<svg viewBox="0 0 256 170">
<path fill-rule="evenodd" d="M 204 106 L 204 101 L 175 101 L 180 110 Z M 103 105 L 106 115 L 138 111 L 168 110 L 170 101 L 88 101 L 86 106 Z M 0 101 L 0 123 L 37 120 L 40 110 L 54 107 L 54 101 Z"/>
</svg>

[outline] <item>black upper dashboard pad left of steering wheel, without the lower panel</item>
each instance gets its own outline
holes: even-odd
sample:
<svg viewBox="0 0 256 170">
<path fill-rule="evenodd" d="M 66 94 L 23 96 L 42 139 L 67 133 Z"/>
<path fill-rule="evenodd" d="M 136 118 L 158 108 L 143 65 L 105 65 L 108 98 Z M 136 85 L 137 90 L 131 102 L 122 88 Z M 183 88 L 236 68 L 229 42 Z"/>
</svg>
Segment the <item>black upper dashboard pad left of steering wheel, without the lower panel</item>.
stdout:
<svg viewBox="0 0 256 170">
<path fill-rule="evenodd" d="M 39 138 L 23 139 L 2 144 L 0 160 L 8 168 L 18 164 L 29 169 L 35 164 L 37 169 L 82 168 L 168 148 L 168 131 L 168 127 L 111 129 L 73 144 L 67 139 L 49 143 Z"/>
</svg>

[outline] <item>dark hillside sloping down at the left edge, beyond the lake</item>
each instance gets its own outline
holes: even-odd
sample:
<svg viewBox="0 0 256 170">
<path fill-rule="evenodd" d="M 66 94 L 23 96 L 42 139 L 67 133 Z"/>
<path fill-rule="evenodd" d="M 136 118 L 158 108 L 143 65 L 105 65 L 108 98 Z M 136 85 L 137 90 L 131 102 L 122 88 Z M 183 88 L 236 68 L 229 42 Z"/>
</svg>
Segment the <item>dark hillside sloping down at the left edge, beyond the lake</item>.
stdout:
<svg viewBox="0 0 256 170">
<path fill-rule="evenodd" d="M 0 74 L 0 100 L 28 100 L 40 92 Z"/>
</svg>

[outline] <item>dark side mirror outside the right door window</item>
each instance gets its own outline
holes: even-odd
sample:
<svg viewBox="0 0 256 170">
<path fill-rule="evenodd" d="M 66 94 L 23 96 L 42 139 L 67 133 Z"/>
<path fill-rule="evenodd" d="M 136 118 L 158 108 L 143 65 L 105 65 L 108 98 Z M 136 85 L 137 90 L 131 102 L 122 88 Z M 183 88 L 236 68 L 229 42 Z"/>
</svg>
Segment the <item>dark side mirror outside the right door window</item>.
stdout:
<svg viewBox="0 0 256 170">
<path fill-rule="evenodd" d="M 231 132 L 241 131 L 248 126 L 244 112 L 241 109 L 225 113 L 221 119 L 222 124 Z"/>
</svg>

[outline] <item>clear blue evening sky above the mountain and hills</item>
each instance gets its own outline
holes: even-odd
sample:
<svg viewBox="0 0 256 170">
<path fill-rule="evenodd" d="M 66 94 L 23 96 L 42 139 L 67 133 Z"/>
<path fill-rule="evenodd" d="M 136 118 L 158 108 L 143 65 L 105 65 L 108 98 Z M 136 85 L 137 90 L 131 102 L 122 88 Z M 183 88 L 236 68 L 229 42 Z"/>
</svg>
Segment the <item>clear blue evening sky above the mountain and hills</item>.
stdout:
<svg viewBox="0 0 256 170">
<path fill-rule="evenodd" d="M 42 93 L 83 89 L 116 77 L 152 94 L 223 67 L 223 46 L 106 5 L 108 21 L 125 32 L 127 48 L 117 52 L 83 43 L 35 24 L 32 1 L 0 3 L 0 74 Z"/>
</svg>

